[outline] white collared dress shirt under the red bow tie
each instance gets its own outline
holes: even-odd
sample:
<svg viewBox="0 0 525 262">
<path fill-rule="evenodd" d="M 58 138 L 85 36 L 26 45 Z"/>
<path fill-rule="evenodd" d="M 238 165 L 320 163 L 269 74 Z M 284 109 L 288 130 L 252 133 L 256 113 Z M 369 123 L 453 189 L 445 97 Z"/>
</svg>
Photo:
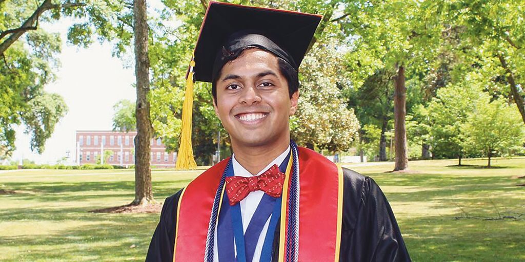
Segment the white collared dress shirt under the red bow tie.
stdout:
<svg viewBox="0 0 525 262">
<path fill-rule="evenodd" d="M 264 173 L 266 170 L 268 170 L 273 165 L 281 165 L 282 161 L 285 160 L 285 158 L 288 156 L 288 153 L 290 152 L 290 146 L 282 152 L 281 155 L 279 155 L 274 161 L 271 161 L 268 166 L 263 168 L 261 171 L 259 171 L 256 176 L 259 176 L 260 174 Z M 252 177 L 254 176 L 251 174 L 246 168 L 240 165 L 239 162 L 235 159 L 235 154 L 232 156 L 232 167 L 234 171 L 234 176 L 239 177 Z M 259 205 L 259 202 L 262 199 L 262 196 L 264 195 L 264 191 L 257 190 L 254 192 L 250 192 L 245 199 L 240 201 L 240 214 L 243 219 L 243 232 L 246 232 L 246 228 L 248 227 L 248 224 L 251 221 L 251 217 L 254 215 L 255 210 L 257 209 L 257 206 Z M 254 259 L 253 262 L 259 262 L 261 252 L 262 252 L 262 244 L 264 244 L 264 239 L 266 236 L 266 232 L 268 231 L 268 226 L 270 224 L 270 217 L 268 217 L 268 220 L 266 221 L 266 224 L 264 227 L 262 227 L 261 234 L 259 235 L 259 240 L 257 241 L 257 246 L 255 247 L 255 253 L 254 253 Z M 215 228 L 215 243 L 213 245 L 213 261 L 219 262 L 219 256 L 217 252 L 217 242 L 220 241 L 220 239 L 217 239 L 217 228 Z M 234 242 L 235 247 L 235 242 Z M 235 247 L 236 248 L 236 247 Z M 235 256 L 237 256 L 237 248 L 235 249 Z M 224 261 L 220 261 L 224 262 Z"/>
</svg>

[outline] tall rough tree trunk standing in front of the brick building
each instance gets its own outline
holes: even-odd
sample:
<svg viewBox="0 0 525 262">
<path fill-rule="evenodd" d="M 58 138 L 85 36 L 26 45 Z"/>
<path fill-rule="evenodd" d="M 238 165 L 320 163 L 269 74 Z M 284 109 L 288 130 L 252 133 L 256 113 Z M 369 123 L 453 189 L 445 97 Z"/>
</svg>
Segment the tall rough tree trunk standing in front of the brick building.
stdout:
<svg viewBox="0 0 525 262">
<path fill-rule="evenodd" d="M 135 200 L 132 204 L 145 205 L 153 200 L 151 189 L 150 139 L 153 128 L 150 119 L 150 60 L 148 57 L 148 20 L 146 0 L 133 1 L 133 31 L 135 34 L 135 78 L 137 79 L 137 136 L 135 137 Z"/>
</svg>

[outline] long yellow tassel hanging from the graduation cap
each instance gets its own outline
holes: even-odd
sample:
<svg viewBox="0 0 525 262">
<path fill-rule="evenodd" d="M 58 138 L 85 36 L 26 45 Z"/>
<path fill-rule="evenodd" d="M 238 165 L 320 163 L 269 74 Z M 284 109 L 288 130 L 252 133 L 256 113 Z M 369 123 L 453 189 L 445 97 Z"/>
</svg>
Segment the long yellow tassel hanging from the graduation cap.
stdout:
<svg viewBox="0 0 525 262">
<path fill-rule="evenodd" d="M 195 67 L 195 61 L 192 58 L 186 78 L 186 93 L 182 105 L 182 128 L 176 169 L 195 169 L 197 167 L 192 148 L 193 67 Z"/>
</svg>

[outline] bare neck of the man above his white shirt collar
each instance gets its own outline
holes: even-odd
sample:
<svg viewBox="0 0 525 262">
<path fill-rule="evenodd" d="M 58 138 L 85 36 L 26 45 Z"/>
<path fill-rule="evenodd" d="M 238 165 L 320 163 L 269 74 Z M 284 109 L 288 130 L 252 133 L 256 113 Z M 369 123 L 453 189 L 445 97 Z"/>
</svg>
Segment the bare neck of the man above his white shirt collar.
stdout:
<svg viewBox="0 0 525 262">
<path fill-rule="evenodd" d="M 262 146 L 240 146 L 232 141 L 235 160 L 253 175 L 256 175 L 268 166 L 268 164 L 281 155 L 289 145 L 289 135 L 286 139 L 278 141 L 278 143 Z"/>
</svg>

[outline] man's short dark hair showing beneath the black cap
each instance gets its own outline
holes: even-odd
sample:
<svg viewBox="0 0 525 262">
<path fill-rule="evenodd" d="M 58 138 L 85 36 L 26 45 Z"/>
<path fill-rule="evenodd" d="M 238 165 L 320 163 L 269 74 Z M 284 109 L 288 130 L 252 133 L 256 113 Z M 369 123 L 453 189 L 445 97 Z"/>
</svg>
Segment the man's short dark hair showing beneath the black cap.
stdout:
<svg viewBox="0 0 525 262">
<path fill-rule="evenodd" d="M 239 58 L 245 50 L 250 49 L 250 48 L 258 48 L 258 47 L 246 47 L 244 49 L 239 50 L 238 52 L 233 52 L 233 53 L 223 50 L 222 57 L 220 59 L 224 61 L 223 64 L 226 64 L 230 61 L 233 61 Z M 264 50 L 264 49 L 261 49 L 261 50 Z M 297 70 L 290 65 L 290 63 L 288 63 L 286 60 L 280 57 L 277 57 L 277 64 L 279 65 L 280 73 L 285 77 L 286 82 L 288 83 L 288 93 L 291 98 L 293 93 L 299 90 L 299 74 Z M 220 77 L 221 73 L 222 73 L 222 69 L 218 71 L 218 73 L 213 78 L 213 82 L 212 82 L 212 95 L 215 101 L 217 101 L 217 80 Z"/>
</svg>

